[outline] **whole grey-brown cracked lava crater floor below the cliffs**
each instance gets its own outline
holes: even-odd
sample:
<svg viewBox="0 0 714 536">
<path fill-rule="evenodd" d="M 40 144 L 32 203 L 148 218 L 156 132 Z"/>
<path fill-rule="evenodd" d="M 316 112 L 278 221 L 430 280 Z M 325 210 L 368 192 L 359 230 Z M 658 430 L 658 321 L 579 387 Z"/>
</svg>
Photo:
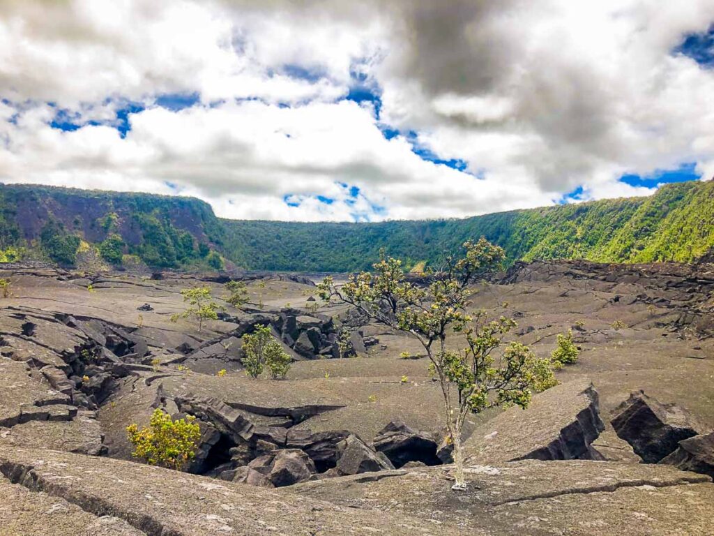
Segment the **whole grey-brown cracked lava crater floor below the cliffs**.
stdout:
<svg viewBox="0 0 714 536">
<path fill-rule="evenodd" d="M 548 355 L 572 329 L 582 352 L 528 410 L 470 418 L 463 494 L 450 490 L 449 465 L 392 470 L 373 450 L 391 422 L 406 445 L 436 450 L 443 438 L 418 344 L 355 325 L 353 357 L 334 359 L 333 323 L 350 315 L 311 300 L 309 279 L 248 281 L 238 310 L 215 274 L 0 264 L 0 278 L 11 281 L 0 298 L 0 535 L 712 533 L 711 478 L 676 464 L 714 467 L 713 264 L 533 262 L 473 287 L 473 309 L 516 319 L 513 340 Z M 226 306 L 201 331 L 169 320 L 193 284 Z M 295 359 L 286 379 L 246 377 L 240 337 L 257 324 Z M 686 415 L 704 439 L 641 463 L 625 439 L 635 440 L 617 435 L 632 428 L 622 404 L 640 390 L 656 401 L 638 417 L 653 437 L 668 433 L 668 415 Z M 146 425 L 157 407 L 201 419 L 189 469 L 203 476 L 131 457 L 126 426 Z M 345 445 L 385 470 L 335 476 Z M 279 490 L 229 481 L 275 449 L 306 453 L 317 474 Z"/>
</svg>

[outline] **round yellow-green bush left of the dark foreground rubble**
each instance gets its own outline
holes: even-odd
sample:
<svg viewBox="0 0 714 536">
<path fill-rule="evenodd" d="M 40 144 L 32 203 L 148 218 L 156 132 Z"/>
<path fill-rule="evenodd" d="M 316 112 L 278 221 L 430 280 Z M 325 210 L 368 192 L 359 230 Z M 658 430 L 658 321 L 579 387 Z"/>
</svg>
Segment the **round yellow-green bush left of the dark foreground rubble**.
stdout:
<svg viewBox="0 0 714 536">
<path fill-rule="evenodd" d="M 148 427 L 139 430 L 136 425 L 126 428 L 129 442 L 134 445 L 134 457 L 143 458 L 149 465 L 160 465 L 177 471 L 196 456 L 201 429 L 196 417 L 172 420 L 171 415 L 157 409 Z"/>
</svg>

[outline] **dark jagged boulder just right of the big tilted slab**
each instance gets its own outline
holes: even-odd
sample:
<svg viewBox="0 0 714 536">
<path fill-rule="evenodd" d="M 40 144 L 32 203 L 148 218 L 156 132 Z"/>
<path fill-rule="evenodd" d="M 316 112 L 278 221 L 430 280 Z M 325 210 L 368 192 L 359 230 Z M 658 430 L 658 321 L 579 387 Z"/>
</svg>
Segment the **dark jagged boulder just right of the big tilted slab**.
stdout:
<svg viewBox="0 0 714 536">
<path fill-rule="evenodd" d="M 633 392 L 614 411 L 613 428 L 632 445 L 645 463 L 657 463 L 674 452 L 679 442 L 698 434 L 680 407 L 663 405 L 643 391 Z"/>
</svg>

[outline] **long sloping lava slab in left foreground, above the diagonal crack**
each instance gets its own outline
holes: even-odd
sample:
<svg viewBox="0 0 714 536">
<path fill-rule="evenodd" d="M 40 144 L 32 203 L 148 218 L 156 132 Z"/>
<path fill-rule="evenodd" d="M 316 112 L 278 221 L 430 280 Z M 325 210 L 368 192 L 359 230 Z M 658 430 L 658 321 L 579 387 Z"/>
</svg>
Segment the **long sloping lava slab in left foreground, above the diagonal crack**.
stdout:
<svg viewBox="0 0 714 536">
<path fill-rule="evenodd" d="M 110 514 L 124 520 L 141 534 L 151 536 L 203 535 L 344 535 L 385 534 L 411 536 L 423 525 L 418 517 L 406 517 L 398 512 L 346 511 L 329 502 L 295 495 L 288 490 L 265 490 L 222 482 L 197 475 L 149 467 L 148 465 L 106 457 L 72 455 L 51 450 L 2 450 L 0 473 L 16 485 L 32 492 L 36 505 L 47 505 L 45 492 L 52 504 L 71 503 L 84 512 Z M 0 486 L 4 485 L 0 480 Z M 6 500 L 4 487 L 0 496 Z M 19 504 L 15 502 L 14 504 Z M 46 512 L 52 507 L 46 507 Z M 38 508 L 34 508 L 38 510 Z M 76 510 L 75 510 L 76 511 Z M 0 512 L 4 512 L 0 506 Z M 94 513 L 92 513 L 94 512 Z M 13 511 L 10 520 L 24 515 Z M 81 514 L 76 519 L 80 520 Z M 0 517 L 0 533 L 8 526 Z M 56 517 L 43 516 L 44 521 L 66 520 L 61 512 Z M 14 522 L 14 521 L 13 521 Z M 17 526 L 17 525 L 14 525 Z M 66 524 L 67 532 L 49 532 L 48 536 L 81 535 L 81 525 Z M 105 532 L 96 536 L 134 536 L 134 532 Z M 444 527 L 439 527 L 442 530 Z M 455 525 L 446 524 L 453 535 L 466 535 Z M 17 534 L 9 532 L 9 534 Z M 19 532 L 44 535 L 44 532 Z M 90 536 L 95 536 L 89 533 Z"/>
</svg>

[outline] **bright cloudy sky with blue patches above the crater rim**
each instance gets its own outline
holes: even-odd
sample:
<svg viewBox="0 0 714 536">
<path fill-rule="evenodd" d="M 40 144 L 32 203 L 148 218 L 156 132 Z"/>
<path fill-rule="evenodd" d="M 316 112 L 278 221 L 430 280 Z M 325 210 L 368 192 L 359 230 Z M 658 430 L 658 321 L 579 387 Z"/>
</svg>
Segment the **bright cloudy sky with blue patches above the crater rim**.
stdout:
<svg viewBox="0 0 714 536">
<path fill-rule="evenodd" d="M 0 182 L 466 217 L 714 177 L 714 0 L 0 0 Z"/>
</svg>

